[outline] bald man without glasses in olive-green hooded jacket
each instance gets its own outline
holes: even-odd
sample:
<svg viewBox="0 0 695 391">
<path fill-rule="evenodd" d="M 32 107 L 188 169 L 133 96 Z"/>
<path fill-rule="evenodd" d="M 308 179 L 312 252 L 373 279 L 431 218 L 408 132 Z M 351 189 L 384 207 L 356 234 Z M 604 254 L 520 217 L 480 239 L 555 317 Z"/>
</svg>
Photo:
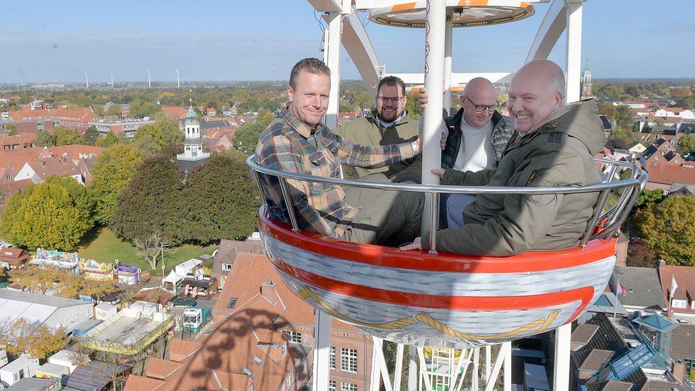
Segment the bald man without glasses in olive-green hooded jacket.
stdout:
<svg viewBox="0 0 695 391">
<path fill-rule="evenodd" d="M 495 170 L 432 170 L 442 185 L 584 187 L 601 182 L 593 156 L 605 144 L 594 100 L 566 105 L 565 78 L 554 62 L 523 66 L 509 88 L 508 107 L 518 134 Z M 506 257 L 527 250 L 575 247 L 598 194 L 481 194 L 464 213 L 464 226 L 440 230 L 438 250 Z M 428 238 L 423 233 L 422 238 Z M 417 238 L 402 250 L 428 250 Z"/>
</svg>

